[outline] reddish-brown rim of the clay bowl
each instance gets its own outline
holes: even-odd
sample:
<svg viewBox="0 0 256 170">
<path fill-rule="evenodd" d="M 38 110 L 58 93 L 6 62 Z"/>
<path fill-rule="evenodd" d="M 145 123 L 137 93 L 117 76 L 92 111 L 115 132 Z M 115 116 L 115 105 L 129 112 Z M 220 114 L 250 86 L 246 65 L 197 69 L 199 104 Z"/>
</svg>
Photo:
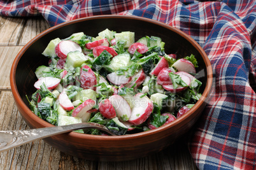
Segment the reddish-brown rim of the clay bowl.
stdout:
<svg viewBox="0 0 256 170">
<path fill-rule="evenodd" d="M 159 133 L 160 131 L 171 129 L 172 127 L 180 124 L 181 122 L 186 120 L 188 117 L 190 117 L 190 115 L 192 115 L 194 113 L 194 111 L 196 111 L 203 103 L 206 102 L 206 99 L 208 98 L 208 96 L 210 94 L 211 85 L 213 83 L 213 71 L 212 71 L 211 63 L 210 63 L 210 60 L 208 59 L 208 56 L 204 52 L 203 48 L 194 39 L 192 39 L 190 36 L 185 34 L 185 32 L 180 31 L 179 29 L 176 29 L 176 28 L 174 28 L 170 25 L 164 24 L 163 22 L 159 22 L 157 20 L 152 20 L 152 19 L 149 19 L 149 18 L 136 17 L 136 16 L 130 16 L 130 15 L 97 15 L 97 16 L 93 16 L 93 17 L 85 17 L 85 18 L 78 18 L 78 19 L 75 19 L 75 20 L 70 20 L 68 22 L 64 22 L 62 24 L 55 25 L 53 27 L 50 27 L 49 29 L 46 29 L 45 31 L 41 32 L 40 34 L 38 34 L 37 36 L 32 38 L 31 41 L 29 41 L 22 48 L 22 50 L 20 50 L 20 52 L 18 52 L 17 56 L 13 60 L 13 64 L 11 66 L 11 72 L 10 72 L 10 85 L 11 85 L 11 91 L 13 93 L 13 97 L 14 97 L 17 105 L 19 106 L 18 108 L 20 108 L 20 110 L 22 110 L 20 112 L 26 113 L 27 116 L 32 121 L 38 122 L 38 124 L 39 124 L 38 128 L 40 128 L 40 127 L 54 127 L 54 125 L 46 122 L 45 120 L 42 120 L 41 118 L 36 116 L 34 113 L 32 113 L 32 111 L 27 107 L 27 105 L 24 103 L 24 101 L 22 101 L 22 98 L 18 94 L 17 85 L 16 85 L 16 81 L 15 81 L 15 75 L 16 75 L 15 71 L 17 69 L 17 65 L 18 65 L 19 60 L 21 59 L 24 52 L 32 45 L 32 43 L 34 43 L 34 41 L 36 41 L 37 39 L 45 36 L 45 34 L 48 34 L 48 32 L 52 32 L 56 29 L 59 29 L 60 27 L 65 26 L 65 25 L 76 24 L 77 22 L 83 22 L 83 21 L 86 21 L 86 20 L 103 19 L 103 18 L 128 18 L 128 19 L 133 19 L 133 20 L 141 20 L 141 21 L 144 21 L 144 22 L 150 22 L 152 24 L 159 25 L 160 27 L 165 27 L 165 28 L 175 32 L 176 34 L 179 34 L 181 37 L 187 39 L 187 41 L 189 43 L 191 43 L 192 46 L 194 46 L 194 48 L 196 48 L 196 50 L 201 54 L 201 56 L 203 57 L 203 60 L 204 60 L 204 64 L 206 64 L 206 73 L 207 73 L 206 74 L 206 76 L 207 76 L 206 86 L 204 88 L 204 91 L 203 91 L 203 94 L 202 94 L 201 98 L 199 99 L 199 101 L 197 101 L 197 103 L 195 104 L 195 106 L 193 108 L 191 108 L 182 117 L 177 118 L 175 121 L 171 122 L 170 124 L 158 127 L 157 129 L 153 129 L 153 130 L 145 131 L 145 132 L 139 132 L 139 133 L 136 133 L 136 134 L 127 134 L 127 135 L 124 135 L 124 136 L 97 136 L 97 135 L 92 135 L 92 134 L 80 134 L 80 133 L 77 133 L 77 132 L 69 132 L 66 135 L 68 135 L 72 138 L 99 139 L 99 140 L 113 140 L 113 139 L 114 140 L 121 140 L 121 139 L 131 139 L 131 138 L 151 136 L 153 134 Z"/>
</svg>

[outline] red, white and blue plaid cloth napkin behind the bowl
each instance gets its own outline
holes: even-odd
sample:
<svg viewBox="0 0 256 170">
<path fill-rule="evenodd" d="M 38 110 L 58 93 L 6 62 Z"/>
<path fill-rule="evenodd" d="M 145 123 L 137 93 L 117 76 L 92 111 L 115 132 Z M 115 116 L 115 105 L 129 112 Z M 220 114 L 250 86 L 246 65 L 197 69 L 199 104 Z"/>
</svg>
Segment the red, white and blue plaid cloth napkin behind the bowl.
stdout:
<svg viewBox="0 0 256 170">
<path fill-rule="evenodd" d="M 199 169 L 256 169 L 256 1 L 0 1 L 0 15 L 42 15 L 50 25 L 103 14 L 159 20 L 203 47 L 215 78 L 192 157 Z"/>
</svg>

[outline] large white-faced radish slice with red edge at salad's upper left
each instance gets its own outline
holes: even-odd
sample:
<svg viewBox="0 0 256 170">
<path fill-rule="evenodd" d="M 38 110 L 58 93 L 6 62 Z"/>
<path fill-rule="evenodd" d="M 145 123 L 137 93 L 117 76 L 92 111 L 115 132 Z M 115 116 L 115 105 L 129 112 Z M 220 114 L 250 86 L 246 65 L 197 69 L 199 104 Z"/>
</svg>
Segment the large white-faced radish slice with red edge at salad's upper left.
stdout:
<svg viewBox="0 0 256 170">
<path fill-rule="evenodd" d="M 80 45 L 70 40 L 60 41 L 60 43 L 57 44 L 57 46 L 55 47 L 56 55 L 63 60 L 66 60 L 69 52 L 75 52 L 75 51 L 82 52 L 82 48 Z"/>
</svg>

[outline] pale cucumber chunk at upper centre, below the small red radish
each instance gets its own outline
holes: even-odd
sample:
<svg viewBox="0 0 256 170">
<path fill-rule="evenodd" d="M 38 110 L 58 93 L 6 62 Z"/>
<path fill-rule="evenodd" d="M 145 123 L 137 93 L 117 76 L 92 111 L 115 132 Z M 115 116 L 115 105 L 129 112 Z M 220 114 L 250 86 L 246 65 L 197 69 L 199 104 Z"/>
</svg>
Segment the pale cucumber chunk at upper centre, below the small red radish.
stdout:
<svg viewBox="0 0 256 170">
<path fill-rule="evenodd" d="M 121 53 L 111 59 L 109 67 L 117 71 L 120 67 L 127 67 L 131 65 L 131 56 L 129 53 Z"/>
</svg>

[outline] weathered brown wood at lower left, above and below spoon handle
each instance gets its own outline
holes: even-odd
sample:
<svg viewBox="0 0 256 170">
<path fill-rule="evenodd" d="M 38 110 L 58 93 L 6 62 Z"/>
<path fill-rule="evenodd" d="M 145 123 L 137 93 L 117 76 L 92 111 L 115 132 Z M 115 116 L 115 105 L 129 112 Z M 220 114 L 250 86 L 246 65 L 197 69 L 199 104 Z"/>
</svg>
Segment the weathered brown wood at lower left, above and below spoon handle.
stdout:
<svg viewBox="0 0 256 170">
<path fill-rule="evenodd" d="M 18 113 L 11 92 L 0 94 L 0 130 L 29 129 Z M 0 169 L 96 169 L 96 162 L 78 159 L 42 140 L 0 153 Z"/>
</svg>

